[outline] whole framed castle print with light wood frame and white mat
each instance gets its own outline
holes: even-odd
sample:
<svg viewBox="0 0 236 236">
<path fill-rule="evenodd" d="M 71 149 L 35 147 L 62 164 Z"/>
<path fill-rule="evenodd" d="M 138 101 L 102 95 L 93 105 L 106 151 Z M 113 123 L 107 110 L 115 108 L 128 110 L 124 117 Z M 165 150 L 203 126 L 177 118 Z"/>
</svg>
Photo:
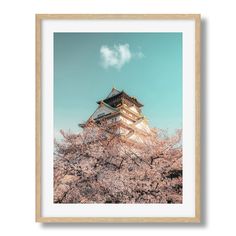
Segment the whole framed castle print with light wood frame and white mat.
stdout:
<svg viewBox="0 0 236 236">
<path fill-rule="evenodd" d="M 36 15 L 36 221 L 200 222 L 200 15 Z"/>
</svg>

